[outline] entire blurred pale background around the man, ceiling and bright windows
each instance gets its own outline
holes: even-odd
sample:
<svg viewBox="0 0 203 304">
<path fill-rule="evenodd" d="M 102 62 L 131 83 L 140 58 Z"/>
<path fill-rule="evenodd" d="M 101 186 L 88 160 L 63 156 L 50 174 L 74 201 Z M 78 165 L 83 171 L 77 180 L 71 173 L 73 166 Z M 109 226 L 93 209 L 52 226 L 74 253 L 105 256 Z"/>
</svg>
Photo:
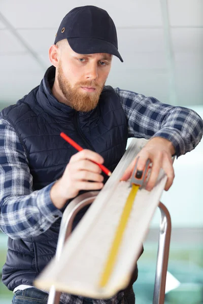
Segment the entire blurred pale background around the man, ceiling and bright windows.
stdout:
<svg viewBox="0 0 203 304">
<path fill-rule="evenodd" d="M 49 67 L 48 49 L 64 15 L 77 6 L 95 5 L 115 22 L 124 60 L 114 58 L 107 85 L 128 89 L 161 102 L 190 107 L 203 118 L 202 0 L 1 0 L 0 108 L 39 85 Z M 101 24 L 102 26 L 102 24 Z M 203 303 L 203 144 L 174 163 L 175 180 L 162 196 L 172 217 L 168 271 L 180 284 L 165 303 Z M 134 284 L 137 303 L 152 303 L 159 210 L 151 223 Z M 0 233 L 0 272 L 7 237 Z M 168 289 L 175 279 L 167 280 Z M 0 283 L 0 303 L 12 292 Z"/>
</svg>

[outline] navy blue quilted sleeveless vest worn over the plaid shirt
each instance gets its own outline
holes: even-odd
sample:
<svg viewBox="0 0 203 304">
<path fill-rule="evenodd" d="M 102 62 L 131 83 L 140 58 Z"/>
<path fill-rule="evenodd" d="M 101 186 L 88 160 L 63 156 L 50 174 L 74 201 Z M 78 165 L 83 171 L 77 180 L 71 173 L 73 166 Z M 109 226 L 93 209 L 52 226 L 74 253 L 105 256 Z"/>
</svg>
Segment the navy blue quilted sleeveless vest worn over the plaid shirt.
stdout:
<svg viewBox="0 0 203 304">
<path fill-rule="evenodd" d="M 77 153 L 60 137 L 60 132 L 103 156 L 104 165 L 111 171 L 123 156 L 128 138 L 126 116 L 112 87 L 104 88 L 95 109 L 77 112 L 52 95 L 54 77 L 52 66 L 40 86 L 1 113 L 14 126 L 24 145 L 33 176 L 33 191 L 61 177 L 71 156 Z M 84 212 L 78 215 L 75 225 Z M 55 254 L 59 227 L 60 219 L 38 237 L 9 238 L 3 282 L 10 290 L 20 284 L 32 285 Z"/>
</svg>

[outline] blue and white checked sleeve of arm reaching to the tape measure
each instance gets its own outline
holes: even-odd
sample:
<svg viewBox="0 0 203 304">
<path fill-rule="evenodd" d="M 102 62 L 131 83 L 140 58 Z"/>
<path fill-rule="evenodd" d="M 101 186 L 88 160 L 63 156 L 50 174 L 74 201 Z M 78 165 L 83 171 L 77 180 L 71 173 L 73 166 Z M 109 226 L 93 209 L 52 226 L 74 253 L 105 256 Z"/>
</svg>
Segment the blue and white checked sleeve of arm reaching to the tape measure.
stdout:
<svg viewBox="0 0 203 304">
<path fill-rule="evenodd" d="M 128 137 L 166 138 L 173 143 L 177 157 L 191 151 L 201 140 L 203 121 L 195 111 L 131 91 L 114 90 L 127 117 Z"/>
</svg>

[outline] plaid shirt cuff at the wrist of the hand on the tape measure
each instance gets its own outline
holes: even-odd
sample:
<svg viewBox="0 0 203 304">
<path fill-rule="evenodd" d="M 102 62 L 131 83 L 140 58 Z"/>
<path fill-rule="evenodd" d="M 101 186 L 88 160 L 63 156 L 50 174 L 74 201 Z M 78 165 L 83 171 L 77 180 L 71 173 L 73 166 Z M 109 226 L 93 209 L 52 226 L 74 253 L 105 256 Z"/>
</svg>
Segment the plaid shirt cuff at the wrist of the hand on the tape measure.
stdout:
<svg viewBox="0 0 203 304">
<path fill-rule="evenodd" d="M 153 137 L 162 137 L 170 140 L 174 145 L 177 158 L 185 154 L 185 142 L 177 129 L 164 128 L 156 132 L 151 138 Z"/>
</svg>

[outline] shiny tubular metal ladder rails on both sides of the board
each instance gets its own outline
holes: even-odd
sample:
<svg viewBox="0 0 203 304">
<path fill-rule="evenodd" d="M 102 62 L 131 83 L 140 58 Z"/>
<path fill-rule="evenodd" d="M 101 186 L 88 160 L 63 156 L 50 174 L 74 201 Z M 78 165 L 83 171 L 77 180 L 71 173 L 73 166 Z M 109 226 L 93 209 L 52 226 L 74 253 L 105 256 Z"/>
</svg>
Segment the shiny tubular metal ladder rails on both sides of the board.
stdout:
<svg viewBox="0 0 203 304">
<path fill-rule="evenodd" d="M 87 192 L 74 199 L 64 210 L 60 231 L 58 236 L 58 243 L 56 248 L 56 261 L 60 260 L 63 245 L 72 231 L 72 225 L 76 214 L 85 206 L 93 203 L 99 191 Z M 156 262 L 156 275 L 154 284 L 153 304 L 164 304 L 165 297 L 165 281 L 168 264 L 168 254 L 171 239 L 171 217 L 167 208 L 159 202 L 161 211 L 161 223 L 159 229 L 159 243 Z M 54 285 L 49 291 L 49 298 L 47 304 L 59 304 L 60 291 L 56 291 Z"/>
</svg>

